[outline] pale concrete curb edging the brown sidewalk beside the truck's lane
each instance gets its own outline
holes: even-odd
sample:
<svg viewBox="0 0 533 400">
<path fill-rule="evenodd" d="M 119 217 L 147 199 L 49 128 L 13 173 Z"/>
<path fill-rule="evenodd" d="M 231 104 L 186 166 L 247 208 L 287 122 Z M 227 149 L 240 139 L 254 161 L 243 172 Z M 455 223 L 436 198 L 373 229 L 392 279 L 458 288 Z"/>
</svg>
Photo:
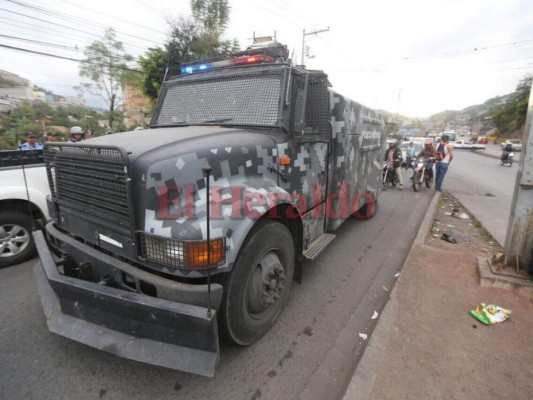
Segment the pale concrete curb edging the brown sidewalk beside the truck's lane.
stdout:
<svg viewBox="0 0 533 400">
<path fill-rule="evenodd" d="M 414 249 L 425 242 L 426 235 L 431 229 L 435 213 L 437 211 L 437 204 L 440 198 L 440 192 L 435 192 L 433 199 L 428 207 L 428 212 L 424 217 L 420 229 L 416 235 L 415 240 L 409 250 L 407 258 L 402 267 L 403 269 L 408 265 Z M 401 275 L 399 277 L 401 279 Z M 398 280 L 399 280 L 398 279 Z M 364 353 L 357 364 L 354 375 L 342 397 L 342 400 L 367 400 L 374 387 L 378 367 L 385 355 L 386 344 L 389 341 L 389 336 L 394 325 L 396 316 L 398 315 L 398 302 L 396 300 L 396 285 L 394 286 L 390 300 L 385 305 L 381 316 L 374 328 L 374 332 L 370 337 L 370 341 L 364 349 Z"/>
</svg>

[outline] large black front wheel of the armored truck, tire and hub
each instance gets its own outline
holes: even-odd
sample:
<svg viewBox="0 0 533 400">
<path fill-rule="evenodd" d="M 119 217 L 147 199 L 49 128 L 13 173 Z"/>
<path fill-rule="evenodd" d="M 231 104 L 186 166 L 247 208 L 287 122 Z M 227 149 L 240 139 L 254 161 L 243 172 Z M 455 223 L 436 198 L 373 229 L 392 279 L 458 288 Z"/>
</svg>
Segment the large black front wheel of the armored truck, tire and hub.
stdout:
<svg viewBox="0 0 533 400">
<path fill-rule="evenodd" d="M 258 221 L 224 283 L 218 315 L 226 340 L 246 346 L 274 325 L 287 302 L 294 260 L 287 227 L 275 221 Z"/>
</svg>

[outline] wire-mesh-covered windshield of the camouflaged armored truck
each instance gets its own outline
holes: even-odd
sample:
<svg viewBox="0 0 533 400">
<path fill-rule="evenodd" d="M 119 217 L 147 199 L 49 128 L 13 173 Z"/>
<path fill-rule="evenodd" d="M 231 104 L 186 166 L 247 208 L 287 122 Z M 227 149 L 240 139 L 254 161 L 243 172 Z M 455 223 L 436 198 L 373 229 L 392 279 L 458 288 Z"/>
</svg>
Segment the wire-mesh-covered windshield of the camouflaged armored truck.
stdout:
<svg viewBox="0 0 533 400">
<path fill-rule="evenodd" d="M 165 83 L 152 125 L 280 123 L 284 71 L 197 74 Z"/>
</svg>

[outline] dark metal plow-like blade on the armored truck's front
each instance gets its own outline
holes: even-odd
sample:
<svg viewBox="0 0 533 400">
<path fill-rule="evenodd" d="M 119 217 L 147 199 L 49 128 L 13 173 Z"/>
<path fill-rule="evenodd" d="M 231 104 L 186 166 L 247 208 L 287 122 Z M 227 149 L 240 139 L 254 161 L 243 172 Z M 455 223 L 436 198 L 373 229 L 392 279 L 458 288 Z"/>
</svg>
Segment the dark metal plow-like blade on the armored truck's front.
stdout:
<svg viewBox="0 0 533 400">
<path fill-rule="evenodd" d="M 214 376 L 215 310 L 62 275 L 43 233 L 34 239 L 34 275 L 51 332 L 131 360 Z"/>
</svg>

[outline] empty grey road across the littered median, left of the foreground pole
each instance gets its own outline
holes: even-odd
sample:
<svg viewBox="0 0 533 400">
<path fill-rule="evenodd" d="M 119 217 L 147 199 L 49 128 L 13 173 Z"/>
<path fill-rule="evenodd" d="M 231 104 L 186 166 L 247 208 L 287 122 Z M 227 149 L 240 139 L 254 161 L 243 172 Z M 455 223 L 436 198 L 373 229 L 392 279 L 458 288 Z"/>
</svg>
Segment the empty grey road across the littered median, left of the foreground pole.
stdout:
<svg viewBox="0 0 533 400">
<path fill-rule="evenodd" d="M 494 154 L 498 152 L 493 151 Z M 443 189 L 450 190 L 467 209 L 493 210 L 491 213 L 476 213 L 476 217 L 502 246 L 505 244 L 519 155 L 517 153 L 516 163 L 511 167 L 503 167 L 498 159 L 487 157 L 481 151 L 456 150 L 443 184 Z"/>
</svg>

